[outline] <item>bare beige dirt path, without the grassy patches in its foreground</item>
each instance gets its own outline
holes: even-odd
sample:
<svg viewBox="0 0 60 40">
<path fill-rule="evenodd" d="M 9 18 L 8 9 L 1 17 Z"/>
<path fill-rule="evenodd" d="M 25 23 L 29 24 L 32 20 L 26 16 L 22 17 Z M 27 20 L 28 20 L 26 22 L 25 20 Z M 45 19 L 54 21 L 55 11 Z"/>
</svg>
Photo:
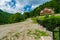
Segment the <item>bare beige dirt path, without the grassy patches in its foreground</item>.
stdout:
<svg viewBox="0 0 60 40">
<path fill-rule="evenodd" d="M 45 31 L 46 33 L 49 34 L 49 37 L 41 37 L 39 40 L 52 40 L 52 33 L 47 31 L 46 28 L 43 28 L 39 24 L 33 24 L 31 19 L 27 19 L 24 22 L 19 22 L 19 23 L 14 23 L 14 24 L 6 24 L 6 25 L 0 25 L 0 39 L 6 35 L 9 35 L 8 33 L 12 32 L 18 33 L 21 32 L 20 38 L 16 40 L 35 40 L 33 37 L 27 37 L 27 30 L 34 30 L 34 29 L 39 29 L 41 31 Z M 47 38 L 47 39 L 46 39 Z"/>
</svg>

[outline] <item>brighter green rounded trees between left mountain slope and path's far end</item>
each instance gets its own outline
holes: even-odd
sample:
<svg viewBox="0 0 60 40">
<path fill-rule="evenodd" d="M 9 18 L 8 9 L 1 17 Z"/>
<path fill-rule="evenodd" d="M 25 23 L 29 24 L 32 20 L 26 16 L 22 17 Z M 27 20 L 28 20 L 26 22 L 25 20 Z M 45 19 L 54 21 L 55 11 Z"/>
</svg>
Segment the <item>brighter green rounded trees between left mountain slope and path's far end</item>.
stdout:
<svg viewBox="0 0 60 40">
<path fill-rule="evenodd" d="M 15 22 L 21 22 L 23 20 L 23 16 L 21 13 L 16 13 L 9 17 L 8 23 L 15 23 Z"/>
</svg>

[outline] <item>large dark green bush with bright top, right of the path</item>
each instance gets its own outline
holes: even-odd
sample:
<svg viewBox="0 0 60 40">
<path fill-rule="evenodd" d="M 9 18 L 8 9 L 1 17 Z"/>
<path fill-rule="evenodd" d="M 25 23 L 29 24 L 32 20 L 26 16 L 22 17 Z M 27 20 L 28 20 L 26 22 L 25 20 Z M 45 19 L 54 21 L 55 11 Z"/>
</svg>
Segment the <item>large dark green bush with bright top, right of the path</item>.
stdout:
<svg viewBox="0 0 60 40">
<path fill-rule="evenodd" d="M 47 18 L 45 17 L 43 20 L 38 18 L 37 22 L 52 31 L 55 27 L 60 26 L 60 16 L 51 15 Z"/>
</svg>

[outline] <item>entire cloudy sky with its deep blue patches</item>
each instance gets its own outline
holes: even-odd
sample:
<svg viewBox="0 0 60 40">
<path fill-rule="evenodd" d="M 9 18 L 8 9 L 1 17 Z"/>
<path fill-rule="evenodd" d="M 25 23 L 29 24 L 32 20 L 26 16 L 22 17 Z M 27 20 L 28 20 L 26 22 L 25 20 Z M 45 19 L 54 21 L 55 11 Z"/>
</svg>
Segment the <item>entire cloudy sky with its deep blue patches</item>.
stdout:
<svg viewBox="0 0 60 40">
<path fill-rule="evenodd" d="M 0 0 L 0 9 L 10 13 L 32 11 L 49 0 Z"/>
</svg>

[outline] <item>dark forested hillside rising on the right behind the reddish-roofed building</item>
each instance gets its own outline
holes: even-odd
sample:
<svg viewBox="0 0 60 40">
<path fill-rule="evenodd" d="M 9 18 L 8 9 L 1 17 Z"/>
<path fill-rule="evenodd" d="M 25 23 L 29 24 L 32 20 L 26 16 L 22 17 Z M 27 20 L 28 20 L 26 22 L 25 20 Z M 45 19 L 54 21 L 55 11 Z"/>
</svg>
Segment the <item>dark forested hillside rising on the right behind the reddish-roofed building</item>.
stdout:
<svg viewBox="0 0 60 40">
<path fill-rule="evenodd" d="M 42 4 L 42 5 L 40 5 L 39 7 L 35 8 L 35 9 L 31 12 L 31 14 L 32 14 L 33 16 L 40 15 L 40 11 L 41 11 L 42 9 L 44 9 L 44 8 L 52 8 L 52 9 L 54 9 L 55 14 L 56 14 L 56 13 L 60 13 L 60 5 L 59 5 L 59 4 L 60 4 L 60 0 L 51 0 L 51 1 L 46 2 L 46 3 Z"/>
</svg>

